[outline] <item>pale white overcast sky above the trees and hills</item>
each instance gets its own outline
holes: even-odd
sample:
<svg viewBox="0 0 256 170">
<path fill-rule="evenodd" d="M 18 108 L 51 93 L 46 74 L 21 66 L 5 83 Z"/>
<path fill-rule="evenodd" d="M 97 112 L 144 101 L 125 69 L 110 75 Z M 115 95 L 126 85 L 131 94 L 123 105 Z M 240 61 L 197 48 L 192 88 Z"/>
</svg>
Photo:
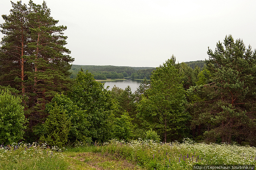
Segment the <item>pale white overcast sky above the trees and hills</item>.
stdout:
<svg viewBox="0 0 256 170">
<path fill-rule="evenodd" d="M 214 50 L 216 42 L 229 34 L 256 48 L 255 0 L 46 0 L 46 4 L 59 25 L 67 26 L 66 47 L 75 58 L 73 64 L 156 67 L 172 54 L 179 62 L 204 60 L 208 46 Z M 9 14 L 11 8 L 9 0 L 1 0 L 1 14 Z"/>
</svg>

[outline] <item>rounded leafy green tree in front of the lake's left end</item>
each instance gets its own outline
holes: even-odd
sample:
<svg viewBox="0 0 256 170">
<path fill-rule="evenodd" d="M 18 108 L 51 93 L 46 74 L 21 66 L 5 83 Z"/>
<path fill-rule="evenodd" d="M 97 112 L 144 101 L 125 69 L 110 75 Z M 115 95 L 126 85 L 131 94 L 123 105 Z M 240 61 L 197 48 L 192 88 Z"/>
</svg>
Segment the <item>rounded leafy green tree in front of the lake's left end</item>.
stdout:
<svg viewBox="0 0 256 170">
<path fill-rule="evenodd" d="M 74 80 L 70 99 L 86 112 L 90 122 L 88 131 L 92 141 L 105 141 L 111 137 L 110 116 L 112 99 L 104 84 L 96 82 L 91 73 L 80 71 Z"/>
</svg>

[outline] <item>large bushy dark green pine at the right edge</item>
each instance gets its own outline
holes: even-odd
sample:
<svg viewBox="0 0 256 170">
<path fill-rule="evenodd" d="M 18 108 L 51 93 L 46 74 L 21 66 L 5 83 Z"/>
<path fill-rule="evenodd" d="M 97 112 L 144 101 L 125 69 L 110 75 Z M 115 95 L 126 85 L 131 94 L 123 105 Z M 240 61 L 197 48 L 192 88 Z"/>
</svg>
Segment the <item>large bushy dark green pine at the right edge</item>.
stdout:
<svg viewBox="0 0 256 170">
<path fill-rule="evenodd" d="M 209 142 L 254 145 L 256 51 L 231 35 L 223 44 L 218 42 L 214 52 L 208 49 L 207 67 L 199 73 L 198 86 L 191 87 L 190 98 L 199 99 L 190 107 L 192 126 L 204 128 L 200 131 Z"/>
</svg>

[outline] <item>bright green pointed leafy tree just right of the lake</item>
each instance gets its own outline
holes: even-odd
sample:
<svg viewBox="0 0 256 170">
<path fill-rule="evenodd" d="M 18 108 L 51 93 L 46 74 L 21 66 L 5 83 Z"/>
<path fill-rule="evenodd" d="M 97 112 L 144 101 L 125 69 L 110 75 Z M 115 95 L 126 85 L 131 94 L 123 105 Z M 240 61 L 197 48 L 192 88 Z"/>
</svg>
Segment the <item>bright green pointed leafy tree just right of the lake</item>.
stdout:
<svg viewBox="0 0 256 170">
<path fill-rule="evenodd" d="M 142 96 L 137 114 L 145 126 L 161 134 L 164 142 L 177 140 L 178 135 L 187 132 L 189 116 L 184 111 L 185 91 L 176 67 L 175 57 L 172 57 L 156 68 L 147 90 L 148 97 Z"/>
</svg>

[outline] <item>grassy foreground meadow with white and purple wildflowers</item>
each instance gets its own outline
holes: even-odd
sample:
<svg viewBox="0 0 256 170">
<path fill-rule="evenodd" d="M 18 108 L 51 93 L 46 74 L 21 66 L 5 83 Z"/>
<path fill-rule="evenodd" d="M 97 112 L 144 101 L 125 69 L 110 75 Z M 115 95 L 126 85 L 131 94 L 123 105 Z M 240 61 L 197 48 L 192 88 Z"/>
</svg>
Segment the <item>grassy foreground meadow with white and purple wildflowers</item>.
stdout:
<svg viewBox="0 0 256 170">
<path fill-rule="evenodd" d="M 12 144 L 0 149 L 1 170 L 109 169 L 172 170 L 192 165 L 255 165 L 256 149 L 236 144 L 155 143 L 111 140 L 104 144 L 48 147 L 47 144 Z"/>
</svg>

